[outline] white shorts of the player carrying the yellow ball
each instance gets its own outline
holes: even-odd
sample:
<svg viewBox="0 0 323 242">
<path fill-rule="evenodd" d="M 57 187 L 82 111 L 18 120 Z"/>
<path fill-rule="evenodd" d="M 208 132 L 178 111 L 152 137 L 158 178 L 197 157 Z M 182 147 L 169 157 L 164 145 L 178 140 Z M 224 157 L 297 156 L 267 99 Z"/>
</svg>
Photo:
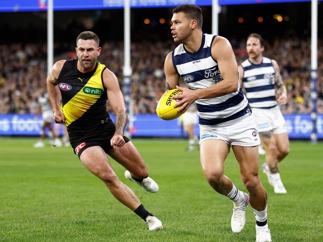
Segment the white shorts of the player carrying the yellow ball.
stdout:
<svg viewBox="0 0 323 242">
<path fill-rule="evenodd" d="M 207 139 L 221 139 L 229 145 L 239 146 L 257 146 L 260 144 L 256 120 L 252 114 L 220 125 L 200 124 L 200 144 Z"/>
</svg>

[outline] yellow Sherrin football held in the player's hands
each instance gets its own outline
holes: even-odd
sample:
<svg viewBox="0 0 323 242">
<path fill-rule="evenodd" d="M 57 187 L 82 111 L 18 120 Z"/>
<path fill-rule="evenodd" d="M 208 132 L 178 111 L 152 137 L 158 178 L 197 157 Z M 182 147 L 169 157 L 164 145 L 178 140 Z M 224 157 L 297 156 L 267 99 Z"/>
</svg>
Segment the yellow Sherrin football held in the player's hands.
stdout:
<svg viewBox="0 0 323 242">
<path fill-rule="evenodd" d="M 181 113 L 177 112 L 180 107 L 174 108 L 174 105 L 178 100 L 171 99 L 171 97 L 176 96 L 177 94 L 183 94 L 183 92 L 178 89 L 172 89 L 161 96 L 156 108 L 158 117 L 163 120 L 173 120 L 181 116 Z"/>
</svg>

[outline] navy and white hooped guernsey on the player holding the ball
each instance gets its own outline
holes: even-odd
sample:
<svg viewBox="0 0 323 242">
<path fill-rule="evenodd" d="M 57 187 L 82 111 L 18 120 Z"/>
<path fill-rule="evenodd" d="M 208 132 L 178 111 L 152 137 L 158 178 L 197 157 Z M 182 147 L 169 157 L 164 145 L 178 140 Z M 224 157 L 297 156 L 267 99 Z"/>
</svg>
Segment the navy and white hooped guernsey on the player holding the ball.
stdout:
<svg viewBox="0 0 323 242">
<path fill-rule="evenodd" d="M 187 51 L 183 44 L 172 52 L 175 70 L 192 90 L 208 88 L 223 80 L 218 62 L 211 53 L 215 37 L 216 35 L 203 34 L 201 46 L 195 53 Z M 200 125 L 222 125 L 251 113 L 240 84 L 236 92 L 216 98 L 198 99 L 196 105 Z"/>
</svg>

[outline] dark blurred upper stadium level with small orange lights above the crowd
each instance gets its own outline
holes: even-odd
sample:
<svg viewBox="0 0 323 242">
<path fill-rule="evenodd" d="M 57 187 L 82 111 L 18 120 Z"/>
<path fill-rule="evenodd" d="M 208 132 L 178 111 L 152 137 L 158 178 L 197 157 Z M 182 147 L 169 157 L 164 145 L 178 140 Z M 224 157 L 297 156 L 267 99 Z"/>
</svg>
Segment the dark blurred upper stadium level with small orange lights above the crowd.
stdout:
<svg viewBox="0 0 323 242">
<path fill-rule="evenodd" d="M 25 2 L 28 0 L 0 0 L 0 5 L 3 6 L 4 2 L 18 1 Z M 33 1 L 38 2 L 37 0 Z M 68 2 L 69 0 L 65 1 Z M 229 0 L 219 0 L 220 3 L 224 1 Z M 232 1 L 235 0 L 230 0 L 230 2 Z M 256 0 L 239 0 L 239 2 L 245 1 L 256 2 Z M 47 1 L 43 0 L 43 2 Z M 58 3 L 62 0 L 54 0 L 54 2 Z M 79 2 L 84 1 L 80 0 Z M 95 0 L 92 0 L 92 2 L 95 2 Z M 258 2 L 264 3 L 265 0 L 258 0 Z M 201 7 L 203 10 L 202 30 L 204 33 L 210 33 L 212 7 Z M 323 13 L 323 1 L 319 1 L 318 8 L 318 35 L 322 39 L 323 14 L 321 13 Z M 172 7 L 132 8 L 131 40 L 167 41 L 171 39 L 169 31 L 171 10 Z M 280 16 L 281 21 L 278 21 L 275 16 Z M 149 24 L 145 23 L 145 19 L 149 19 Z M 160 19 L 163 19 L 162 23 Z M 123 40 L 123 21 L 122 8 L 55 11 L 54 41 L 74 43 L 76 36 L 83 30 L 94 31 L 102 40 Z M 0 38 L 0 43 L 45 41 L 46 29 L 46 11 L 0 13 L 0 31 L 4 33 L 4 38 Z M 220 35 L 230 40 L 240 40 L 251 32 L 262 34 L 269 42 L 277 37 L 283 38 L 295 35 L 299 38 L 309 38 L 311 35 L 311 2 L 221 5 L 219 14 Z"/>
</svg>

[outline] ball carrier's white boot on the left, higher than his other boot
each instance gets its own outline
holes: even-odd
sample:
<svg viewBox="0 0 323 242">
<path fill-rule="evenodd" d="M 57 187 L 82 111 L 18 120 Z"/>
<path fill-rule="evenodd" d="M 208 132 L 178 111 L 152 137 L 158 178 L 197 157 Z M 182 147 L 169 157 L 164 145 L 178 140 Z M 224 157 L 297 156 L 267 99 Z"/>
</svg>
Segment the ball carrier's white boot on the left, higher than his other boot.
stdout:
<svg viewBox="0 0 323 242">
<path fill-rule="evenodd" d="M 235 203 L 233 207 L 233 214 L 231 217 L 231 229 L 233 233 L 240 233 L 245 225 L 245 210 L 249 203 L 249 196 L 243 192 L 244 202 L 242 205 L 237 206 Z"/>
</svg>

